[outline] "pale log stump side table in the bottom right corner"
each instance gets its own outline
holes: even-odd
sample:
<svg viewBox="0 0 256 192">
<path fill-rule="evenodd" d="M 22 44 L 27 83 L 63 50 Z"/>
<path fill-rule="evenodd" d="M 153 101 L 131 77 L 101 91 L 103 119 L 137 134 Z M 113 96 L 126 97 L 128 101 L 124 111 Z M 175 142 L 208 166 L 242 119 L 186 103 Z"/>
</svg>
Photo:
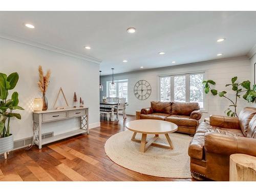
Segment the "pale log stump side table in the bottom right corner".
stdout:
<svg viewBox="0 0 256 192">
<path fill-rule="evenodd" d="M 256 157 L 230 155 L 229 181 L 256 181 Z"/>
</svg>

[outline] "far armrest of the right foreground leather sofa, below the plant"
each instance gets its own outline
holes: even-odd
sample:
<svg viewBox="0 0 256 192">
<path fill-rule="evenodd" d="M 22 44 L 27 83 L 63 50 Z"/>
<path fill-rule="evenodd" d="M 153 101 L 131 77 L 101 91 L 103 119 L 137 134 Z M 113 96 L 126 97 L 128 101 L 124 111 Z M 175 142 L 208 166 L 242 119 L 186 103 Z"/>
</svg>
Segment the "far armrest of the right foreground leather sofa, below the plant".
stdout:
<svg viewBox="0 0 256 192">
<path fill-rule="evenodd" d="M 210 125 L 223 127 L 226 129 L 240 130 L 239 120 L 237 117 L 210 115 Z"/>
</svg>

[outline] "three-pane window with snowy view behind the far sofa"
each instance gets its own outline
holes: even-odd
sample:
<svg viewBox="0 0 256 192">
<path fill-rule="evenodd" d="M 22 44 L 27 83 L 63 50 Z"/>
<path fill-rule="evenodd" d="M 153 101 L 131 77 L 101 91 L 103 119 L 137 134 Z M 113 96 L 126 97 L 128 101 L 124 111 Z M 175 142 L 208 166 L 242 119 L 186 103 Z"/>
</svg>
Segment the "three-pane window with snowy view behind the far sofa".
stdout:
<svg viewBox="0 0 256 192">
<path fill-rule="evenodd" d="M 204 73 L 168 75 L 159 77 L 161 101 L 198 102 L 205 108 L 202 81 Z"/>
</svg>

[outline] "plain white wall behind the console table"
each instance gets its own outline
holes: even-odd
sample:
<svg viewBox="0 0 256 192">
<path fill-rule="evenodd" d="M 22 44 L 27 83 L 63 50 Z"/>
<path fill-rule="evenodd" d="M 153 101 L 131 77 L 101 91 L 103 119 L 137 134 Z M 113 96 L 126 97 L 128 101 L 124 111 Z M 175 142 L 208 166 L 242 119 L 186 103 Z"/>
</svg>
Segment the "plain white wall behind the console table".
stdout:
<svg viewBox="0 0 256 192">
<path fill-rule="evenodd" d="M 37 88 L 39 65 L 45 72 L 48 69 L 52 72 L 46 94 L 48 109 L 53 108 L 53 102 L 62 87 L 70 106 L 73 105 L 74 92 L 82 97 L 85 106 L 90 108 L 90 127 L 99 126 L 99 64 L 0 38 L 0 72 L 19 74 L 14 91 L 19 93 L 19 105 L 25 109 L 19 111 L 22 120 L 11 121 L 14 140 L 32 136 L 33 99 L 41 97 Z M 56 135 L 78 127 L 78 119 L 68 119 L 44 123 L 42 133 L 54 131 Z"/>
</svg>

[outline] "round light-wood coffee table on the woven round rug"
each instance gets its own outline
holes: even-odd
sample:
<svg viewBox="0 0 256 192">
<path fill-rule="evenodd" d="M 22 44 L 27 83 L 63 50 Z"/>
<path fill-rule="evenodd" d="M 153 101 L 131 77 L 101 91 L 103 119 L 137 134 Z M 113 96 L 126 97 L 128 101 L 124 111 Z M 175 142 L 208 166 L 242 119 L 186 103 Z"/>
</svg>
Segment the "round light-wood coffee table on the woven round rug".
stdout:
<svg viewBox="0 0 256 192">
<path fill-rule="evenodd" d="M 144 153 L 151 145 L 170 148 L 173 150 L 173 143 L 170 140 L 168 133 L 173 133 L 178 130 L 178 126 L 174 123 L 162 120 L 139 119 L 127 122 L 126 128 L 133 131 L 132 141 L 140 142 L 140 152 Z M 137 133 L 141 133 L 141 140 L 135 139 Z M 155 137 L 146 140 L 147 134 L 154 134 Z M 159 138 L 159 134 L 164 134 L 169 145 L 155 142 Z"/>
</svg>

